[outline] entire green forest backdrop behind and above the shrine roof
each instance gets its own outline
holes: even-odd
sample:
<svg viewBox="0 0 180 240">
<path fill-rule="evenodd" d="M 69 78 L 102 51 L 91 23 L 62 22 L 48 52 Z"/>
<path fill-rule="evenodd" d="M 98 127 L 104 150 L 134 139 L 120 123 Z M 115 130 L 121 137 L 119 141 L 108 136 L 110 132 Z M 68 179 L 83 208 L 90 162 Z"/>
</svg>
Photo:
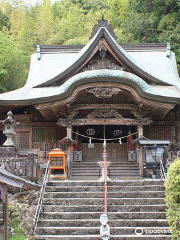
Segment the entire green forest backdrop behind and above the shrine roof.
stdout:
<svg viewBox="0 0 180 240">
<path fill-rule="evenodd" d="M 119 43 L 171 42 L 180 66 L 180 1 L 0 1 L 0 91 L 21 87 L 37 44 L 86 44 L 102 14 Z"/>
</svg>

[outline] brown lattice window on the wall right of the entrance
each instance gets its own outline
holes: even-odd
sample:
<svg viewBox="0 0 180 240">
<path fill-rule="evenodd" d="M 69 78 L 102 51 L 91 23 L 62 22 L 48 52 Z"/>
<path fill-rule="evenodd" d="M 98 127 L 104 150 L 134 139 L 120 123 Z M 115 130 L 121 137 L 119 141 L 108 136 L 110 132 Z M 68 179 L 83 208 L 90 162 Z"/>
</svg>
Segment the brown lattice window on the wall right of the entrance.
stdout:
<svg viewBox="0 0 180 240">
<path fill-rule="evenodd" d="M 144 136 L 149 139 L 167 139 L 176 141 L 175 126 L 147 126 L 144 127 Z"/>
</svg>

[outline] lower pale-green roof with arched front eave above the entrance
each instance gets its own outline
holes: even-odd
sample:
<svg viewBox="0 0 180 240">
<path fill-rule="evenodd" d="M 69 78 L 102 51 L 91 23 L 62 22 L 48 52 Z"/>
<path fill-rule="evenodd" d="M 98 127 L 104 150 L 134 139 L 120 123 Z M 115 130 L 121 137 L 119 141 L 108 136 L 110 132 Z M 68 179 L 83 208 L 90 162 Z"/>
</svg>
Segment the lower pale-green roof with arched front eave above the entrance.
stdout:
<svg viewBox="0 0 180 240">
<path fill-rule="evenodd" d="M 54 101 L 56 99 L 63 99 L 71 94 L 73 89 L 80 85 L 85 85 L 93 82 L 100 83 L 125 83 L 133 86 L 139 94 L 144 93 L 147 98 L 158 97 L 159 100 L 165 102 L 177 103 L 180 99 L 180 86 L 157 86 L 149 85 L 138 76 L 121 70 L 91 70 L 79 73 L 61 86 L 41 87 L 41 88 L 27 88 L 4 93 L 0 95 L 0 103 L 26 102 L 26 103 L 41 103 Z M 103 83 L 103 84 L 104 84 Z"/>
</svg>

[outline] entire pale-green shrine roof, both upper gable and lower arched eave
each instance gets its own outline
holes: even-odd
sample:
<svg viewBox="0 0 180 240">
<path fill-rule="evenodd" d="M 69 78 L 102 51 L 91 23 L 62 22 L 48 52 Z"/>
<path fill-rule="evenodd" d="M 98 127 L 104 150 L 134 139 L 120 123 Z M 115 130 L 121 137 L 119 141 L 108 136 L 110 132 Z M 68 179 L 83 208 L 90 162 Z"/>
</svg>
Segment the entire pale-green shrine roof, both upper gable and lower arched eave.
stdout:
<svg viewBox="0 0 180 240">
<path fill-rule="evenodd" d="M 93 70 L 76 74 L 71 77 L 68 74 L 74 73 L 74 68 L 82 64 L 84 57 L 89 51 L 93 51 L 99 39 L 105 37 L 112 49 L 119 56 L 134 67 L 142 77 L 121 70 Z M 26 85 L 18 90 L 0 94 L 0 102 L 8 103 L 37 103 L 42 101 L 53 101 L 57 97 L 63 98 L 68 91 L 77 84 L 92 82 L 96 77 L 104 81 L 104 78 L 113 79 L 117 83 L 133 85 L 137 90 L 147 96 L 157 96 L 163 101 L 179 102 L 180 99 L 180 79 L 176 66 L 175 54 L 171 52 L 167 57 L 166 48 L 163 44 L 129 44 L 119 45 L 104 27 L 100 28 L 95 36 L 86 45 L 78 46 L 41 46 L 41 58 L 38 60 L 37 54 L 31 57 L 31 65 Z M 145 76 L 143 78 L 143 76 Z M 67 77 L 61 86 L 54 86 L 56 81 Z M 149 82 L 146 81 L 146 77 Z M 109 80 L 110 81 L 110 80 Z M 165 86 L 167 85 L 167 86 Z M 67 93 L 68 94 L 68 93 Z M 166 99 L 165 99 L 166 98 Z"/>
</svg>

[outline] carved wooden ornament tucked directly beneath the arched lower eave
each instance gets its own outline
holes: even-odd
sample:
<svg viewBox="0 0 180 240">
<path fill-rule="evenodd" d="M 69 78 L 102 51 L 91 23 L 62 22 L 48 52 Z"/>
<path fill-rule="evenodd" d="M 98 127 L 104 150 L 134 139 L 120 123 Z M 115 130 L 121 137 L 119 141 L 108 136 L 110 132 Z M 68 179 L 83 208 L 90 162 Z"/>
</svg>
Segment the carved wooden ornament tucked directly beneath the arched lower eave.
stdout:
<svg viewBox="0 0 180 240">
<path fill-rule="evenodd" d="M 96 87 L 86 89 L 88 93 L 92 93 L 97 98 L 111 98 L 113 95 L 117 95 L 121 92 L 120 88 L 112 87 Z"/>
</svg>

